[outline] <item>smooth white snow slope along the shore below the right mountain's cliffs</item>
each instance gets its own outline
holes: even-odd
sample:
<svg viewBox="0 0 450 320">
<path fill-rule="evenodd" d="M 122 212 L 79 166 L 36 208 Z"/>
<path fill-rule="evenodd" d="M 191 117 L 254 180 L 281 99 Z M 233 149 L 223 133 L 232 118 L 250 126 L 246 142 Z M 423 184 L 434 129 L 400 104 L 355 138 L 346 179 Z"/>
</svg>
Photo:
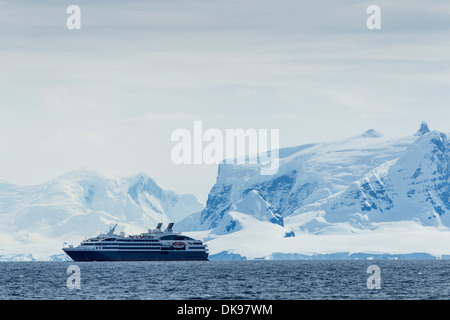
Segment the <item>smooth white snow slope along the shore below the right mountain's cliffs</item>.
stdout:
<svg viewBox="0 0 450 320">
<path fill-rule="evenodd" d="M 399 257 L 442 258 L 450 255 L 450 232 L 426 227 L 414 221 L 376 223 L 373 230 L 356 232 L 296 232 L 286 236 L 286 229 L 239 212 L 227 213 L 239 229 L 227 234 L 214 231 L 189 233 L 207 241 L 211 259 L 312 259 Z M 344 232 L 343 232 L 344 231 Z M 427 254 L 427 255 L 424 255 Z"/>
</svg>

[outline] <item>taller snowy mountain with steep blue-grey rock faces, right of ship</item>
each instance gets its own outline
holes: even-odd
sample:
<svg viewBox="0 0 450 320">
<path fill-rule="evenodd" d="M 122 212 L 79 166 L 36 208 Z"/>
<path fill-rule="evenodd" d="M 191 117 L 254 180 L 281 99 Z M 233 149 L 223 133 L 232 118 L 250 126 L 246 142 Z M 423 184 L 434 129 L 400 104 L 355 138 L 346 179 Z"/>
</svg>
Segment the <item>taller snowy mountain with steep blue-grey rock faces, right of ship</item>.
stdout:
<svg viewBox="0 0 450 320">
<path fill-rule="evenodd" d="M 221 164 L 205 209 L 179 228 L 202 232 L 222 258 L 450 253 L 447 134 L 426 123 L 404 137 L 368 130 L 279 157 L 272 176 L 259 165 Z"/>
</svg>

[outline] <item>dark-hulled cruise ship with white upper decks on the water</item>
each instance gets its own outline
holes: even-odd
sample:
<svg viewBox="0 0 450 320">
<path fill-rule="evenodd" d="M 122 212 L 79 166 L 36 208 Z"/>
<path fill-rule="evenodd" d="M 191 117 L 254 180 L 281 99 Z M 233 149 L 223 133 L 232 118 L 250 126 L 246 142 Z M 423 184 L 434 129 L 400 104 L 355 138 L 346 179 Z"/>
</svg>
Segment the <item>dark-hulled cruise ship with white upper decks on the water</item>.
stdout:
<svg viewBox="0 0 450 320">
<path fill-rule="evenodd" d="M 64 245 L 64 252 L 74 261 L 170 261 L 208 260 L 208 249 L 200 240 L 173 232 L 173 223 L 162 231 L 156 229 L 140 235 L 109 232 L 81 242 L 77 247 Z"/>
</svg>

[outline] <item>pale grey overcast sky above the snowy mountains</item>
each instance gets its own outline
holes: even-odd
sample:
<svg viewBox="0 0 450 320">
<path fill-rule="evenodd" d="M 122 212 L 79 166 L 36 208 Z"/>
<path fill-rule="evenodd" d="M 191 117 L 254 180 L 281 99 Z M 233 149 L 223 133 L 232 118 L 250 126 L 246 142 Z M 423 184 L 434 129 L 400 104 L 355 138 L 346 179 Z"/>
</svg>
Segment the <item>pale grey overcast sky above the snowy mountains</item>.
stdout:
<svg viewBox="0 0 450 320">
<path fill-rule="evenodd" d="M 281 147 L 448 132 L 449 17 L 437 0 L 0 1 L 0 179 L 145 172 L 206 200 L 217 167 L 170 159 L 194 120 L 280 129 Z"/>
</svg>

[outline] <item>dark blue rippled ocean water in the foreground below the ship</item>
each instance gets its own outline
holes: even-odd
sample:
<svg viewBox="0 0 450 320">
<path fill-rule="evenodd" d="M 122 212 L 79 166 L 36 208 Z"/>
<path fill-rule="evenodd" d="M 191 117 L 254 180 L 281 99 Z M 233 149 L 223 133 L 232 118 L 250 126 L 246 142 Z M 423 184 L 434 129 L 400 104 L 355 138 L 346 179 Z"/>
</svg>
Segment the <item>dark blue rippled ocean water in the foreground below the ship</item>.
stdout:
<svg viewBox="0 0 450 320">
<path fill-rule="evenodd" d="M 67 285 L 71 265 L 79 289 Z M 368 288 L 371 265 L 379 289 Z M 1 262 L 0 299 L 450 299 L 450 260 Z"/>
</svg>

